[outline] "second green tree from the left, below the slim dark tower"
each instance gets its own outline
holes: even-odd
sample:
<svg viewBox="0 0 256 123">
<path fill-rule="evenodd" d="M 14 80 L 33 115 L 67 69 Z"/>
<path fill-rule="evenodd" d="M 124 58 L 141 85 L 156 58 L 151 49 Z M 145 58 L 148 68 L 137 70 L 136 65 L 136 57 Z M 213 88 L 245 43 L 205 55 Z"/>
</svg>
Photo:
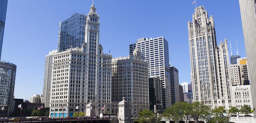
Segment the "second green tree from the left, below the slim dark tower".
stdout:
<svg viewBox="0 0 256 123">
<path fill-rule="evenodd" d="M 171 108 L 166 108 L 165 111 L 163 112 L 163 117 L 165 117 L 169 121 L 178 121 L 179 120 L 179 114 L 175 112 L 175 109 L 173 106 Z"/>
</svg>

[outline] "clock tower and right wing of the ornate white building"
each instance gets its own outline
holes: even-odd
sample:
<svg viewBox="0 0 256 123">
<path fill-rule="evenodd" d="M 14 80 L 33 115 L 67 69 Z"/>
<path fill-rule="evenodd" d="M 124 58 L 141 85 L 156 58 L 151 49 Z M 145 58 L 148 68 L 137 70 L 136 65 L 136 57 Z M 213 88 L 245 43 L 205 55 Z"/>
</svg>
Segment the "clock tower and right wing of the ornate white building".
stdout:
<svg viewBox="0 0 256 123">
<path fill-rule="evenodd" d="M 85 65 L 87 71 L 85 71 L 84 92 L 87 95 L 86 102 L 92 100 L 96 104 L 96 116 L 99 116 L 104 110 L 111 111 L 112 55 L 104 54 L 103 47 L 99 43 L 100 22 L 94 3 L 91 4 L 87 15 L 85 29 L 88 64 Z"/>
</svg>

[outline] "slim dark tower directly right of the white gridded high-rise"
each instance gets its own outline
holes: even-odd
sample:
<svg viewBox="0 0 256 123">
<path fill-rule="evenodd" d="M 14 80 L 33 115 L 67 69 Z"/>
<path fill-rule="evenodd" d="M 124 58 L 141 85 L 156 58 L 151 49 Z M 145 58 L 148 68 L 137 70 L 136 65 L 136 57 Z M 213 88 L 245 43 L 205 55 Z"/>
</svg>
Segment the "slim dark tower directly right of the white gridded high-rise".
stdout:
<svg viewBox="0 0 256 123">
<path fill-rule="evenodd" d="M 171 104 L 180 102 L 179 70 L 170 66 Z M 182 89 L 183 90 L 183 89 Z"/>
</svg>

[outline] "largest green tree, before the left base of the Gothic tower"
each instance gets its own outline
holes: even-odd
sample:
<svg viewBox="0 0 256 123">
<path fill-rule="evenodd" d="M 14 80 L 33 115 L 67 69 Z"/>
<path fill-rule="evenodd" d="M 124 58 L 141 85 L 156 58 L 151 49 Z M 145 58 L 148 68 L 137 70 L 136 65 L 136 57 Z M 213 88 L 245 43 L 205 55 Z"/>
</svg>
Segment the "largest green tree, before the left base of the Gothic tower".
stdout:
<svg viewBox="0 0 256 123">
<path fill-rule="evenodd" d="M 209 121 L 211 117 L 210 107 L 204 105 L 200 102 L 193 102 L 191 104 L 191 118 L 194 119 L 196 123 L 199 123 L 200 120 Z"/>
</svg>

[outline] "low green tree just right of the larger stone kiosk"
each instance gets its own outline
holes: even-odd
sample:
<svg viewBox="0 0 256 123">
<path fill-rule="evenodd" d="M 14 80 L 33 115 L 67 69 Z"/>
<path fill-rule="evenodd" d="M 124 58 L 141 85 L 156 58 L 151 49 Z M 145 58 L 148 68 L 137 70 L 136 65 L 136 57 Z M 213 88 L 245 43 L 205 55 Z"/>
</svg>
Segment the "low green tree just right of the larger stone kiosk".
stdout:
<svg viewBox="0 0 256 123">
<path fill-rule="evenodd" d="M 135 119 L 135 121 L 139 123 L 153 123 L 156 120 L 156 118 L 157 117 L 153 111 L 144 109 L 139 112 L 138 119 Z"/>
</svg>

